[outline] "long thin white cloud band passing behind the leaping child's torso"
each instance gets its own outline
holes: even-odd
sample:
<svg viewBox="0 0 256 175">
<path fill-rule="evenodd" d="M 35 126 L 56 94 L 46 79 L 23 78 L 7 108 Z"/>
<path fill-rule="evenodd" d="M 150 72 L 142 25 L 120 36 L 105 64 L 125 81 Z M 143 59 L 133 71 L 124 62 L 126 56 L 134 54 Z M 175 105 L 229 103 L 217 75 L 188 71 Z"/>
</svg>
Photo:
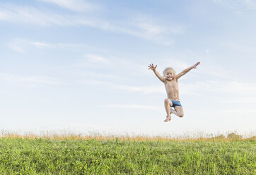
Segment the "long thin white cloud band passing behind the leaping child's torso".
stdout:
<svg viewBox="0 0 256 175">
<path fill-rule="evenodd" d="M 144 94 L 165 94 L 164 85 L 147 85 L 147 86 L 132 86 L 119 85 L 115 83 L 105 83 L 118 90 L 126 90 L 130 92 L 141 92 Z M 180 83 L 180 93 L 182 95 L 198 95 L 198 94 L 215 94 L 224 93 L 225 95 L 235 95 L 235 97 L 248 97 L 248 95 L 255 97 L 256 84 L 255 83 L 241 83 L 236 81 L 221 82 L 221 81 L 206 81 L 196 83 Z"/>
</svg>

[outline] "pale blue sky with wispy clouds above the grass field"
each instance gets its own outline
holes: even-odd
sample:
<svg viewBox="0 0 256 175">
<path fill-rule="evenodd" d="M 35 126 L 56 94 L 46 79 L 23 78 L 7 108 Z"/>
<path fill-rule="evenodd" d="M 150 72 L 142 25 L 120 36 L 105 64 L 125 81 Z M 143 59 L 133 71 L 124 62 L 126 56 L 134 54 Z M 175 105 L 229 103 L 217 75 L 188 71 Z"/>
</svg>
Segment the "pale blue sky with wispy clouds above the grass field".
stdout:
<svg viewBox="0 0 256 175">
<path fill-rule="evenodd" d="M 255 0 L 0 1 L 0 130 L 255 134 Z M 157 71 L 177 73 L 165 119 Z"/>
</svg>

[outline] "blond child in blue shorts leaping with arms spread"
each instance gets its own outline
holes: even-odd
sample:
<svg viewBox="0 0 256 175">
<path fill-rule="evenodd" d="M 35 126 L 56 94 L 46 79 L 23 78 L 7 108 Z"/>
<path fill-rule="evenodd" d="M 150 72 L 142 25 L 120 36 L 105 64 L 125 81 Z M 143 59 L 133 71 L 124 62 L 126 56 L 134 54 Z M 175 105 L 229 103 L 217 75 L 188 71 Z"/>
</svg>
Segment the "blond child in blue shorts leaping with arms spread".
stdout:
<svg viewBox="0 0 256 175">
<path fill-rule="evenodd" d="M 175 75 L 175 71 L 173 68 L 165 68 L 163 71 L 163 76 L 161 76 L 158 71 L 156 71 L 156 66 L 153 66 L 153 64 L 149 64 L 149 69 L 153 71 L 153 73 L 156 74 L 156 76 L 165 84 L 165 90 L 167 92 L 168 98 L 165 99 L 165 111 L 166 111 L 166 119 L 165 122 L 170 121 L 170 114 L 175 114 L 176 116 L 182 117 L 183 109 L 180 104 L 179 99 L 179 88 L 178 88 L 178 79 L 182 76 L 184 76 L 188 71 L 190 71 L 192 68 L 197 68 L 197 65 L 199 65 L 200 62 L 197 62 L 197 64 L 194 64 L 194 66 L 191 66 L 189 68 L 186 68 L 184 71 L 179 73 L 178 75 Z M 175 110 L 170 109 L 170 107 L 174 107 Z"/>
</svg>

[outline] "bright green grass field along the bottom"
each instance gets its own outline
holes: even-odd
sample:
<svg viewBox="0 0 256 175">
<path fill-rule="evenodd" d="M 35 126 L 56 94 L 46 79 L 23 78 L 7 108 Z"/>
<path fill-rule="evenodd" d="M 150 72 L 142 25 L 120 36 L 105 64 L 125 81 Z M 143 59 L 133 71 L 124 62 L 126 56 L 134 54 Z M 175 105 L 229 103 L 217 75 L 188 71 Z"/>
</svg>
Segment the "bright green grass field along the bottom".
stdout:
<svg viewBox="0 0 256 175">
<path fill-rule="evenodd" d="M 248 141 L 0 138 L 0 174 L 255 174 Z"/>
</svg>

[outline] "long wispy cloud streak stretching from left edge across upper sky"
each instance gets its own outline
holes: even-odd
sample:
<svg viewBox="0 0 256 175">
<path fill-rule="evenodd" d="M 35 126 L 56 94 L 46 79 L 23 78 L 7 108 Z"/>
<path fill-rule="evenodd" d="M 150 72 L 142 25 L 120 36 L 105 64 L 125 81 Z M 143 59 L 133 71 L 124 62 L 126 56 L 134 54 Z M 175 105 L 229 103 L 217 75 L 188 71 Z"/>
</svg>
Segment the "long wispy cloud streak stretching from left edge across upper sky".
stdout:
<svg viewBox="0 0 256 175">
<path fill-rule="evenodd" d="M 59 6 L 69 6 L 68 4 L 76 4 L 76 1 L 50 1 Z M 80 2 L 80 1 L 79 1 Z M 82 2 L 82 1 L 81 1 Z M 86 2 L 83 2 L 86 3 Z M 79 4 L 79 3 L 78 3 Z M 70 8 L 76 8 L 76 6 Z M 79 9 L 79 8 L 78 8 Z M 80 13 L 77 14 L 59 14 L 52 11 L 41 10 L 32 6 L 14 6 L 0 4 L 0 20 L 11 23 L 33 24 L 33 25 L 82 25 L 110 32 L 121 32 L 127 35 L 141 37 L 146 40 L 151 40 L 158 44 L 170 46 L 173 44 L 173 35 L 182 33 L 185 30 L 184 26 L 170 25 L 146 15 L 135 15 L 132 18 L 124 18 L 121 20 L 107 20 L 104 17 L 86 16 Z"/>
</svg>

